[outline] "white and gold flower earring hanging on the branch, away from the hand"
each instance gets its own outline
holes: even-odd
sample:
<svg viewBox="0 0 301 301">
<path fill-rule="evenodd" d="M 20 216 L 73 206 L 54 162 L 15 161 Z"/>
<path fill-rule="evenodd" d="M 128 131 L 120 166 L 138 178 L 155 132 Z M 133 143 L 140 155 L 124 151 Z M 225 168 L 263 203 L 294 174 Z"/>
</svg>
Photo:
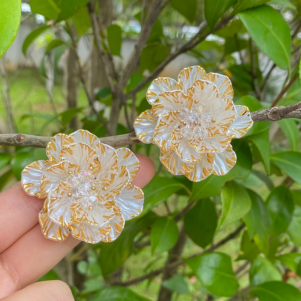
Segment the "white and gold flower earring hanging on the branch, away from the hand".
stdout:
<svg viewBox="0 0 301 301">
<path fill-rule="evenodd" d="M 154 79 L 146 98 L 152 108 L 136 118 L 135 132 L 141 142 L 160 147 L 170 173 L 199 182 L 235 165 L 231 139 L 245 135 L 253 120 L 247 107 L 234 105 L 227 76 L 187 67 L 178 81 Z"/>
</svg>

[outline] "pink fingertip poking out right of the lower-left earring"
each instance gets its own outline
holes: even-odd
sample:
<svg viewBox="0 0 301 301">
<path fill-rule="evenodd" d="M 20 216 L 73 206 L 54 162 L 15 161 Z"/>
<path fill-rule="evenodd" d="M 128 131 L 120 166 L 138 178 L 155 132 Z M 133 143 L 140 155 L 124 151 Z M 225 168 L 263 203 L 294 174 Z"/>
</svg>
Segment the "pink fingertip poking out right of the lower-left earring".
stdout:
<svg viewBox="0 0 301 301">
<path fill-rule="evenodd" d="M 156 168 L 151 158 L 141 154 L 136 155 L 136 157 L 140 161 L 140 169 L 132 183 L 143 188 L 153 178 Z"/>
</svg>

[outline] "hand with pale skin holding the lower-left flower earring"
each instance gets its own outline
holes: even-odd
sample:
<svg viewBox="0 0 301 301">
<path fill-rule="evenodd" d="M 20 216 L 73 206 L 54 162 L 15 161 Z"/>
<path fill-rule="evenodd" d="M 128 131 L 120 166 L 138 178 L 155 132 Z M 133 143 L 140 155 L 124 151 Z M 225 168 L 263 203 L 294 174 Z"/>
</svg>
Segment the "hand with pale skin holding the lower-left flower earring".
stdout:
<svg viewBox="0 0 301 301">
<path fill-rule="evenodd" d="M 143 188 L 154 176 L 154 163 L 137 155 L 140 169 L 133 184 Z M 44 237 L 38 214 L 44 200 L 27 195 L 20 182 L 0 194 L 0 299 L 1 301 L 74 301 L 63 281 L 37 282 L 80 240 L 64 242 Z M 122 235 L 122 233 L 121 233 Z"/>
</svg>

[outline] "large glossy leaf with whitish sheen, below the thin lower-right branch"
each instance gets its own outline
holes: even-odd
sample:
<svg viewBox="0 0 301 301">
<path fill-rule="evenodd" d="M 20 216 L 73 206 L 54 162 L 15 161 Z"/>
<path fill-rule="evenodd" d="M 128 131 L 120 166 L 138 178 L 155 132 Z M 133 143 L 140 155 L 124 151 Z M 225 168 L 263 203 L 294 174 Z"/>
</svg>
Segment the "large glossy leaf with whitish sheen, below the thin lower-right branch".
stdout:
<svg viewBox="0 0 301 301">
<path fill-rule="evenodd" d="M 230 297 L 237 291 L 238 282 L 228 255 L 212 252 L 184 261 L 214 295 Z"/>
</svg>

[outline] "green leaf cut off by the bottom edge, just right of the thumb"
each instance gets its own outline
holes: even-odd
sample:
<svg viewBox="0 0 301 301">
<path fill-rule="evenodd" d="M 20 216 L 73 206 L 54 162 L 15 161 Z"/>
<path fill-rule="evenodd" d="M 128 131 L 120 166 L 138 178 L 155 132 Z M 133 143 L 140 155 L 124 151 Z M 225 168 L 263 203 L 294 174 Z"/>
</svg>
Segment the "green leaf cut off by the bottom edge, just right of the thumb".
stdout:
<svg viewBox="0 0 301 301">
<path fill-rule="evenodd" d="M 142 296 L 137 295 L 126 287 L 110 286 L 105 287 L 99 293 L 94 294 L 89 301 L 150 301 Z"/>
</svg>

